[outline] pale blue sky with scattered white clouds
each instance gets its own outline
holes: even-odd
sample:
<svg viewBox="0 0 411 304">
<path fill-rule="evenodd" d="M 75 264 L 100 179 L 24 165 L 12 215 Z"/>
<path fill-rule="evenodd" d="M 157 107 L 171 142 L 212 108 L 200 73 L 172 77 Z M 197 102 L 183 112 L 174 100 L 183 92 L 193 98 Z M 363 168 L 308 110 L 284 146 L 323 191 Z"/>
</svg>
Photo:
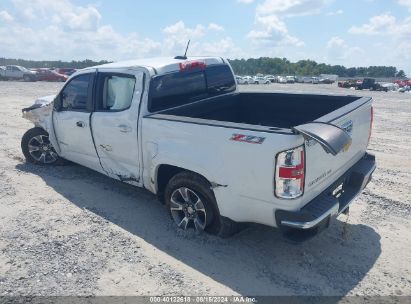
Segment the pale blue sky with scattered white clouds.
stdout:
<svg viewBox="0 0 411 304">
<path fill-rule="evenodd" d="M 411 0 L 0 0 L 0 57 L 285 57 L 411 75 Z"/>
</svg>

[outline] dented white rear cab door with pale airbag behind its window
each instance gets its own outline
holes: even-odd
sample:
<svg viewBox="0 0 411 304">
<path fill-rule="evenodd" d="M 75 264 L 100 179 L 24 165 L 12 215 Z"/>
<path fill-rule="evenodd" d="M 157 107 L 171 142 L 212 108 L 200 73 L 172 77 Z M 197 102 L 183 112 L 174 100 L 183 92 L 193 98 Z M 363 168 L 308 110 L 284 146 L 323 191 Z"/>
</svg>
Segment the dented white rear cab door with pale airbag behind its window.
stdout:
<svg viewBox="0 0 411 304">
<path fill-rule="evenodd" d="M 139 185 L 138 115 L 144 72 L 99 70 L 93 137 L 101 166 L 110 177 Z"/>
</svg>

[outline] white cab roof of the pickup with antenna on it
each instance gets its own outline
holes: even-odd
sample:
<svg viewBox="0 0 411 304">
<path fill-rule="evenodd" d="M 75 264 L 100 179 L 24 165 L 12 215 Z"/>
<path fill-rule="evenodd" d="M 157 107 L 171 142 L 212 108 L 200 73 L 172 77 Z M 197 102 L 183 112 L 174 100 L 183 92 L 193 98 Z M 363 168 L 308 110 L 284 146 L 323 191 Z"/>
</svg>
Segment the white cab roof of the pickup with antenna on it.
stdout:
<svg viewBox="0 0 411 304">
<path fill-rule="evenodd" d="M 87 69 L 118 69 L 118 68 L 138 68 L 145 67 L 153 71 L 154 75 L 161 75 L 170 72 L 175 72 L 181 69 L 180 64 L 186 64 L 190 62 L 201 62 L 205 65 L 224 64 L 226 61 L 221 57 L 187 57 L 186 59 L 176 59 L 172 57 L 157 57 L 157 58 L 144 58 L 128 61 L 120 61 L 102 64 Z"/>
</svg>

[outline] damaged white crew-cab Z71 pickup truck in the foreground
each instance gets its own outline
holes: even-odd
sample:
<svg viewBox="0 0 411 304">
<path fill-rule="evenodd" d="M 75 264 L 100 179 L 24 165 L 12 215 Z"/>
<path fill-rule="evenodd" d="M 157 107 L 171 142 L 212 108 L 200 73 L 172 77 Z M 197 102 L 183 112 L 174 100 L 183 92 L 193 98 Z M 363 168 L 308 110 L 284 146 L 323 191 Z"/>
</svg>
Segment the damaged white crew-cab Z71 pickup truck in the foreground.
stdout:
<svg viewBox="0 0 411 304">
<path fill-rule="evenodd" d="M 222 58 L 160 58 L 76 72 L 23 116 L 27 161 L 65 159 L 165 202 L 174 222 L 220 236 L 239 222 L 305 240 L 371 179 L 367 97 L 238 92 Z"/>
</svg>

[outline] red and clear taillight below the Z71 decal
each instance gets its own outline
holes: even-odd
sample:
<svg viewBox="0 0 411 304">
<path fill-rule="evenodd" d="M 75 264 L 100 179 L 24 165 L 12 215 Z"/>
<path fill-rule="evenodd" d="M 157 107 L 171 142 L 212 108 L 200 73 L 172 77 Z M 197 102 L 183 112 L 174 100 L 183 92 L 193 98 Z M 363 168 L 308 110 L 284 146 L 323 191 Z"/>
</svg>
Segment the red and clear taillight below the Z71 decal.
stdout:
<svg viewBox="0 0 411 304">
<path fill-rule="evenodd" d="M 297 198 L 304 192 L 304 146 L 277 154 L 274 193 L 281 198 Z"/>
</svg>

